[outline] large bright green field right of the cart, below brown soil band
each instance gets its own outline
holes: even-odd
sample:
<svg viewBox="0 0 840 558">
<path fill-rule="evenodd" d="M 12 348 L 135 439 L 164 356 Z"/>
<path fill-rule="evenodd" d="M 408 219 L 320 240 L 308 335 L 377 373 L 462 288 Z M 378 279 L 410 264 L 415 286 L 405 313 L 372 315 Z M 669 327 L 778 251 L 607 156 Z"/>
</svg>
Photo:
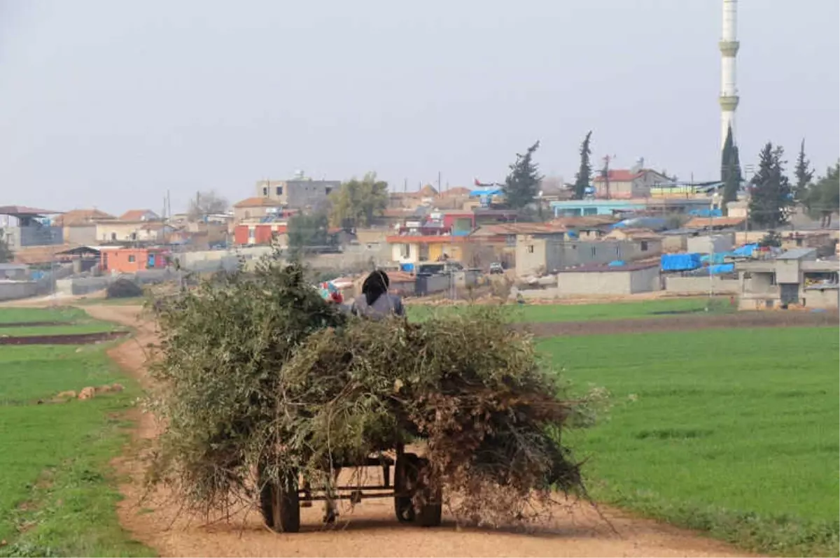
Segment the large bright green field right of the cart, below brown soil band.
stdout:
<svg viewBox="0 0 840 558">
<path fill-rule="evenodd" d="M 579 389 L 612 393 L 570 433 L 593 496 L 748 548 L 840 555 L 837 328 L 554 338 Z"/>
</svg>

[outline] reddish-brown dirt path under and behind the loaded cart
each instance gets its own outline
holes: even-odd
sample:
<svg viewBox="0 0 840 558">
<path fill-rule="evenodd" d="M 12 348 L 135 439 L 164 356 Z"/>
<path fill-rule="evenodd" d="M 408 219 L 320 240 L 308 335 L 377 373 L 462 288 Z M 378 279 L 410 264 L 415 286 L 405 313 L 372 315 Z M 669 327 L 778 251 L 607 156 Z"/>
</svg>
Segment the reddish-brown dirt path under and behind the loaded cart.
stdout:
<svg viewBox="0 0 840 558">
<path fill-rule="evenodd" d="M 138 334 L 115 347 L 110 355 L 127 373 L 149 387 L 144 372 L 144 346 L 154 340 L 148 323 L 139 323 L 139 309 L 128 306 L 88 306 L 91 316 L 138 327 Z M 251 511 L 234 515 L 229 522 L 208 524 L 206 518 L 176 518 L 178 506 L 167 494 L 143 496 L 143 456 L 157 435 L 154 417 L 136 412 L 136 441 L 117 462 L 119 472 L 130 477 L 120 487 L 125 498 L 118 507 L 121 523 L 145 545 L 162 556 L 423 556 L 470 558 L 472 556 L 546 556 L 551 558 L 723 558 L 747 556 L 726 545 L 653 521 L 633 519 L 620 512 L 606 512 L 617 530 L 612 531 L 588 506 L 558 508 L 551 524 L 537 535 L 513 532 L 456 529 L 449 519 L 438 529 L 403 527 L 396 523 L 392 503 L 368 500 L 339 518 L 334 529 L 323 529 L 322 509 L 302 510 L 303 532 L 276 535 L 266 530 Z M 173 521 L 174 520 L 174 521 Z"/>
</svg>

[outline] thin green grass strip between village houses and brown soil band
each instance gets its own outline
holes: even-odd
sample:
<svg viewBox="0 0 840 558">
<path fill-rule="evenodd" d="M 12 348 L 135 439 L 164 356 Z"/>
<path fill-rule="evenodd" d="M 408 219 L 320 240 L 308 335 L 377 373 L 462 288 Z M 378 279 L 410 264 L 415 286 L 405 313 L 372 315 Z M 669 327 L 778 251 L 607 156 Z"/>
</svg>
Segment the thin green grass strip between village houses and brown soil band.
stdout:
<svg viewBox="0 0 840 558">
<path fill-rule="evenodd" d="M 612 302 L 588 305 L 505 305 L 513 321 L 543 323 L 552 321 L 607 321 L 638 318 L 676 316 L 680 314 L 703 314 L 708 298 L 639 300 L 637 302 Z M 463 306 L 407 306 L 412 320 L 425 320 L 436 312 L 459 311 Z M 711 301 L 711 312 L 721 314 L 732 311 L 728 299 L 715 298 Z"/>
</svg>

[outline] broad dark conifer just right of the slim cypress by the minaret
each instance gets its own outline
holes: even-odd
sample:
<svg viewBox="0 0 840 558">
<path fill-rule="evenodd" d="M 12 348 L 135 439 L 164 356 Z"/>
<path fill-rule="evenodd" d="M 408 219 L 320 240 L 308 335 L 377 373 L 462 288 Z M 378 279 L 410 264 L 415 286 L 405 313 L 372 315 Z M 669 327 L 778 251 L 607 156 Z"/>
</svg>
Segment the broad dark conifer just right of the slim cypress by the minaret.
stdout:
<svg viewBox="0 0 840 558">
<path fill-rule="evenodd" d="M 794 206 L 793 189 L 785 176 L 785 149 L 768 142 L 761 150 L 759 170 L 750 181 L 750 220 L 773 230 L 784 225 Z"/>
</svg>

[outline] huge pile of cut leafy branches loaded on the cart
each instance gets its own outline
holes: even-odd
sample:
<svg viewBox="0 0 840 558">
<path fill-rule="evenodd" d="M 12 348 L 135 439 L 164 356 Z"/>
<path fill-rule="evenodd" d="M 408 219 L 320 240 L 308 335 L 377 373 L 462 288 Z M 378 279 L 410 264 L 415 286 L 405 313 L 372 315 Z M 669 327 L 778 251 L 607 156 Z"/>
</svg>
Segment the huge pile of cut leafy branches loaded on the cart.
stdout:
<svg viewBox="0 0 840 558">
<path fill-rule="evenodd" d="M 157 313 L 165 432 L 151 480 L 195 511 L 254 502 L 255 483 L 289 475 L 329 491 L 332 467 L 412 443 L 465 522 L 523 519 L 580 489 L 559 441 L 575 405 L 498 310 L 360 320 L 299 265 L 266 259 Z"/>
</svg>

